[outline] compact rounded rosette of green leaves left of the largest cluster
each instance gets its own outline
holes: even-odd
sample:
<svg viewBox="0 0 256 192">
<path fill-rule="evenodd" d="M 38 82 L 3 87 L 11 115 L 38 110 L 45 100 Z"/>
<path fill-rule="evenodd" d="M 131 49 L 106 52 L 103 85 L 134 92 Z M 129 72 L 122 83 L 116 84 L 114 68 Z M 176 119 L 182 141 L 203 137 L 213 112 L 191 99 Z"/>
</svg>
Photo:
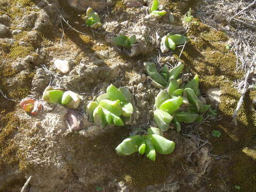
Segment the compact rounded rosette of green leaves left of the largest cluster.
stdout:
<svg viewBox="0 0 256 192">
<path fill-rule="evenodd" d="M 89 122 L 94 122 L 102 128 L 107 124 L 123 126 L 129 123 L 133 114 L 131 100 L 132 95 L 127 88 L 117 89 L 114 85 L 109 85 L 107 93 L 86 106 Z"/>
</svg>

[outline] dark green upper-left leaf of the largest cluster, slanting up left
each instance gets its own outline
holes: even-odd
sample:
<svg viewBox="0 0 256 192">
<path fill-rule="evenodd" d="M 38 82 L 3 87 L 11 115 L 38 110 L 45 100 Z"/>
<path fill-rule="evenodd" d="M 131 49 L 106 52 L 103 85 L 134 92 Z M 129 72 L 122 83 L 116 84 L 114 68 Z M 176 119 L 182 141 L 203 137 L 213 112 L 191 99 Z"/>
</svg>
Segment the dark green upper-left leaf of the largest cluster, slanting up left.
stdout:
<svg viewBox="0 0 256 192">
<path fill-rule="evenodd" d="M 144 67 L 147 71 L 147 74 L 157 83 L 166 86 L 167 82 L 165 79 L 158 73 L 154 62 L 144 62 Z"/>
</svg>

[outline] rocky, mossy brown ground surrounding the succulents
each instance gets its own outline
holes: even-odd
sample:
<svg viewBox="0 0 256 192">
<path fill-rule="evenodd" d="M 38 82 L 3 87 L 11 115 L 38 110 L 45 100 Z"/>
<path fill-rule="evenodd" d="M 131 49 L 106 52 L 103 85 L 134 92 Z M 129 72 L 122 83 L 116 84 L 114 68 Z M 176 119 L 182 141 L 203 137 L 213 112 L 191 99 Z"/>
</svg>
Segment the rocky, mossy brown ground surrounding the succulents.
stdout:
<svg viewBox="0 0 256 192">
<path fill-rule="evenodd" d="M 0 191 L 20 191 L 30 175 L 30 192 L 256 190 L 255 89 L 245 95 L 238 125 L 232 123 L 241 95 L 234 82 L 244 77 L 234 50 L 227 48 L 235 39 L 197 17 L 182 21 L 189 7 L 196 13 L 204 1 L 159 2 L 167 11 L 161 19 L 149 17 L 151 1 L 143 0 L 0 2 Z M 88 6 L 101 17 L 98 30 L 85 25 Z M 224 21 L 219 29 L 235 30 Z M 182 46 L 159 51 L 167 33 L 191 39 L 181 55 Z M 117 34 L 136 35 L 138 43 L 130 49 L 115 47 L 109 40 Z M 69 61 L 67 74 L 53 65 L 56 59 Z M 118 156 L 114 149 L 124 138 L 154 125 L 159 89 L 143 62 L 171 68 L 179 59 L 184 74 L 199 75 L 202 95 L 217 115 L 183 125 L 181 133 L 167 131 L 176 148 L 170 155 L 157 154 L 156 162 L 138 154 Z M 100 129 L 87 122 L 84 109 L 110 83 L 133 93 L 135 114 L 131 125 Z M 69 129 L 70 112 L 60 105 L 42 101 L 44 111 L 38 116 L 22 111 L 19 101 L 41 99 L 48 85 L 81 95 L 82 130 Z M 214 130 L 221 137 L 213 137 Z"/>
</svg>

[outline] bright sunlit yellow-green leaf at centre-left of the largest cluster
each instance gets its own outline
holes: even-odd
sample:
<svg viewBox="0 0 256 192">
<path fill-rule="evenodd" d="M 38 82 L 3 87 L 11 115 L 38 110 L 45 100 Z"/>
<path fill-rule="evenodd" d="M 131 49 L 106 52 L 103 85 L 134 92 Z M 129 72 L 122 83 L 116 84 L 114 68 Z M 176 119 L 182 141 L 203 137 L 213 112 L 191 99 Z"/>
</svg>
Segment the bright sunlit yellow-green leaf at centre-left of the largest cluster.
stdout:
<svg viewBox="0 0 256 192">
<path fill-rule="evenodd" d="M 174 111 L 179 109 L 179 107 L 182 104 L 182 101 L 183 99 L 180 96 L 177 98 L 168 99 L 162 103 L 162 105 L 160 106 L 160 109 L 169 114 L 172 114 Z"/>
</svg>

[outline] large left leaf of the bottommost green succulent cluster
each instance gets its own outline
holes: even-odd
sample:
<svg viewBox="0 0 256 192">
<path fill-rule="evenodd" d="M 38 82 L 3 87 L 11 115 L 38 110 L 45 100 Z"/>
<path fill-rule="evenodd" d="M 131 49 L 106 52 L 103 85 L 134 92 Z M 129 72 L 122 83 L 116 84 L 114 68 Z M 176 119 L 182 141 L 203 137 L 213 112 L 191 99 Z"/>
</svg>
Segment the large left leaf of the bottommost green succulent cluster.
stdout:
<svg viewBox="0 0 256 192">
<path fill-rule="evenodd" d="M 141 143 L 142 137 L 140 135 L 134 135 L 123 140 L 115 150 L 118 155 L 131 155 L 139 150 Z"/>
</svg>

